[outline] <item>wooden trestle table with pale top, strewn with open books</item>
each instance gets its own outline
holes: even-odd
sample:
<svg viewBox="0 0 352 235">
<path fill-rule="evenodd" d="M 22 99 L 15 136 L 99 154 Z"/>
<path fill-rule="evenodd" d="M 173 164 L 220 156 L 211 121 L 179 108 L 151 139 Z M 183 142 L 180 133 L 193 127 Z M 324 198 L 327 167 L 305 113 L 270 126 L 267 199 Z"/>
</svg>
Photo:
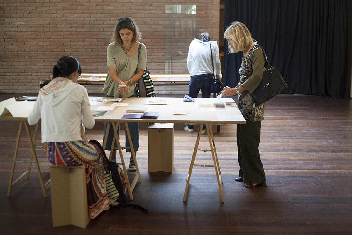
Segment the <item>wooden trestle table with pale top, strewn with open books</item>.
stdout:
<svg viewBox="0 0 352 235">
<path fill-rule="evenodd" d="M 106 98 L 106 97 L 89 97 L 90 100 L 92 99 L 97 99 L 97 98 Z M 143 106 L 147 101 L 150 100 L 166 100 L 168 101 L 168 105 L 145 105 L 147 107 L 151 107 L 151 110 L 147 111 L 154 111 L 154 112 L 159 112 L 159 117 L 157 119 L 123 119 L 122 116 L 126 114 L 126 109 L 128 106 Z M 96 117 L 95 121 L 96 122 L 105 122 L 108 123 L 109 125 L 113 126 L 114 129 L 114 139 L 117 142 L 118 145 L 118 150 L 120 154 L 120 158 L 122 161 L 122 167 L 124 170 L 124 173 L 126 175 L 126 181 L 127 181 L 127 189 L 130 194 L 131 200 L 133 199 L 132 197 L 132 191 L 134 186 L 136 185 L 137 181 L 141 182 L 140 178 L 140 173 L 139 173 L 139 168 L 138 168 L 138 163 L 136 156 L 134 154 L 134 149 L 131 143 L 131 136 L 130 132 L 128 130 L 128 125 L 127 122 L 133 123 L 133 122 L 140 122 L 140 123 L 185 123 L 185 124 L 200 124 L 199 130 L 202 130 L 202 126 L 206 125 L 207 129 L 207 137 L 209 140 L 210 144 L 210 150 L 212 153 L 213 157 L 213 162 L 214 162 L 214 168 L 215 168 L 215 174 L 216 178 L 218 180 L 218 185 L 219 185 L 219 191 L 220 191 L 220 196 L 221 196 L 221 201 L 224 202 L 224 198 L 222 195 L 222 178 L 221 178 L 221 172 L 220 172 L 220 167 L 219 167 L 219 161 L 218 161 L 218 155 L 216 153 L 216 148 L 215 148 L 215 142 L 214 142 L 214 136 L 212 132 L 211 125 L 213 124 L 244 124 L 246 123 L 244 117 L 241 115 L 241 112 L 239 111 L 237 105 L 233 103 L 228 103 L 226 105 L 227 111 L 200 111 L 199 102 L 201 103 L 213 103 L 213 102 L 219 102 L 219 101 L 225 101 L 225 100 L 232 100 L 233 99 L 217 99 L 217 98 L 196 98 L 196 102 L 183 102 L 183 98 L 158 98 L 158 97 L 152 97 L 152 98 L 141 98 L 141 97 L 130 97 L 130 98 L 124 98 L 120 103 L 128 103 L 128 106 L 116 106 L 113 110 L 106 112 L 102 117 Z M 96 107 L 99 106 L 111 106 L 111 102 L 99 102 L 95 106 L 92 106 L 91 109 L 94 110 Z M 172 113 L 176 109 L 187 109 L 191 110 L 190 115 L 173 115 Z M 117 125 L 119 123 L 125 123 L 127 135 L 128 135 L 128 140 L 131 143 L 131 151 L 134 159 L 134 163 L 137 168 L 137 174 L 130 185 L 127 177 L 127 171 L 126 167 L 124 164 L 123 156 L 122 156 L 122 149 L 121 145 L 119 143 L 119 139 L 117 136 Z M 107 128 L 107 133 L 108 133 L 109 128 Z M 106 137 L 107 137 L 106 133 Z M 184 192 L 183 196 L 183 201 L 186 200 L 186 195 L 187 195 L 187 190 L 188 190 L 188 185 L 191 177 L 191 173 L 193 170 L 194 166 L 194 161 L 196 157 L 196 152 L 198 149 L 199 141 L 201 138 L 201 131 L 198 132 L 196 141 L 195 141 L 195 146 L 193 150 L 193 155 L 192 159 L 190 162 L 189 166 L 189 171 L 188 171 L 188 176 L 186 180 L 186 189 Z M 115 141 L 114 140 L 114 141 Z M 104 141 L 104 145 L 106 143 L 106 140 Z M 113 145 L 112 145 L 113 146 Z M 103 146 L 105 147 L 105 146 Z"/>
</svg>

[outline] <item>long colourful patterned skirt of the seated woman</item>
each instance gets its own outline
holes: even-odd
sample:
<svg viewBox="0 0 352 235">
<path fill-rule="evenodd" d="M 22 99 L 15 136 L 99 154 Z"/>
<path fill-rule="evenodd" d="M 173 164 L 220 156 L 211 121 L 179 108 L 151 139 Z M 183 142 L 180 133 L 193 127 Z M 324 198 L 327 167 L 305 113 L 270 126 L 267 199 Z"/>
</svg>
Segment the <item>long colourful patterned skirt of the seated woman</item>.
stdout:
<svg viewBox="0 0 352 235">
<path fill-rule="evenodd" d="M 86 166 L 87 199 L 90 218 L 109 206 L 104 175 L 108 172 L 105 153 L 87 141 L 45 142 L 49 161 L 58 166 Z"/>
</svg>

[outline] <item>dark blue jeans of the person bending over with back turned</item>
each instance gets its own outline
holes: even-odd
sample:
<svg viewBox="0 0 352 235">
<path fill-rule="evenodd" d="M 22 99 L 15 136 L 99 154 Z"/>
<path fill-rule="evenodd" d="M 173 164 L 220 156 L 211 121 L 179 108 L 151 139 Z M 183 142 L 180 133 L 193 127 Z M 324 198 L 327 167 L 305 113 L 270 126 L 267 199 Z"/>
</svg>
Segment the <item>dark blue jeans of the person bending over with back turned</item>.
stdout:
<svg viewBox="0 0 352 235">
<path fill-rule="evenodd" d="M 202 91 L 202 98 L 210 98 L 210 86 L 213 83 L 213 74 L 200 74 L 196 76 L 191 76 L 191 81 L 189 83 L 189 96 L 196 98 L 199 91 Z M 193 129 L 194 125 L 187 125 L 189 129 Z M 199 127 L 199 125 L 198 125 Z M 203 130 L 206 127 L 203 126 Z"/>
</svg>

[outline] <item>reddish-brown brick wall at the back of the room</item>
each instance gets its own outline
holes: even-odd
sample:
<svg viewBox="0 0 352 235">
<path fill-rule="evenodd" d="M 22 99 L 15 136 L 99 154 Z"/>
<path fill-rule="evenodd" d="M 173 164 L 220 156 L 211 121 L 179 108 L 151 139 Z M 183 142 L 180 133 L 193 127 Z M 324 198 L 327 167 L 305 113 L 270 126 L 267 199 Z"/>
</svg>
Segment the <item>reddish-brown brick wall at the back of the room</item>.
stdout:
<svg viewBox="0 0 352 235">
<path fill-rule="evenodd" d="M 166 5 L 196 5 L 196 14 L 165 13 Z M 132 17 L 153 74 L 188 73 L 193 39 L 207 31 L 219 41 L 220 0 L 1 0 L 0 93 L 37 93 L 58 58 L 72 55 L 84 73 L 107 73 L 106 49 L 120 17 Z M 166 62 L 166 67 L 165 67 Z M 87 86 L 100 93 L 101 86 Z M 187 86 L 158 93 L 188 93 Z"/>
</svg>

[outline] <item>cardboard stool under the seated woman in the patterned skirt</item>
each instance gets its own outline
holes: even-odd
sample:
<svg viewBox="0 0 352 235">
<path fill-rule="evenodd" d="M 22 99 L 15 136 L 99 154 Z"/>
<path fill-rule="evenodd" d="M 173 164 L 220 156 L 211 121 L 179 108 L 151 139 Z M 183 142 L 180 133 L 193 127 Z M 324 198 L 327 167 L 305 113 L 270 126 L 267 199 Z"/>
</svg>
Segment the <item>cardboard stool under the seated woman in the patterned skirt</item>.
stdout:
<svg viewBox="0 0 352 235">
<path fill-rule="evenodd" d="M 86 169 L 84 166 L 50 166 L 53 227 L 75 225 L 86 228 L 89 221 Z"/>
</svg>

